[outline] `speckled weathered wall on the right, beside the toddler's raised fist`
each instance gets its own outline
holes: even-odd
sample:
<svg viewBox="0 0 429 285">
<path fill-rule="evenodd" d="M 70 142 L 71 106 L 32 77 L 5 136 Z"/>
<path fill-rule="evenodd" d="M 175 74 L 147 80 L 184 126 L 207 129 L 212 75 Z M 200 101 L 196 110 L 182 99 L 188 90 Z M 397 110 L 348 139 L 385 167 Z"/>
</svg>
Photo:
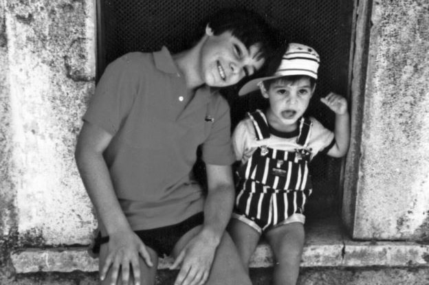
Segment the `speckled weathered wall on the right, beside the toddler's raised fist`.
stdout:
<svg viewBox="0 0 429 285">
<path fill-rule="evenodd" d="M 353 237 L 428 239 L 429 1 L 373 1 L 371 24 Z"/>
</svg>

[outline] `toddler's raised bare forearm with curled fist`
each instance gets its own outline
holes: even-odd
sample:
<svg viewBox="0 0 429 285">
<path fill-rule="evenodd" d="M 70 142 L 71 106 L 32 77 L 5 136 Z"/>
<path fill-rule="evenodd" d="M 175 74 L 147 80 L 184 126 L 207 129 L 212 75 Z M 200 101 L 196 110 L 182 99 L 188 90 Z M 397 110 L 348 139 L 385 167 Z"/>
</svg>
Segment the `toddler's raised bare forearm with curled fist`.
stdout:
<svg viewBox="0 0 429 285">
<path fill-rule="evenodd" d="M 336 113 L 334 130 L 336 143 L 327 152 L 327 155 L 330 157 L 343 157 L 346 155 L 350 143 L 350 119 L 347 100 L 336 93 L 329 93 L 327 97 L 321 98 L 320 101 Z"/>
</svg>

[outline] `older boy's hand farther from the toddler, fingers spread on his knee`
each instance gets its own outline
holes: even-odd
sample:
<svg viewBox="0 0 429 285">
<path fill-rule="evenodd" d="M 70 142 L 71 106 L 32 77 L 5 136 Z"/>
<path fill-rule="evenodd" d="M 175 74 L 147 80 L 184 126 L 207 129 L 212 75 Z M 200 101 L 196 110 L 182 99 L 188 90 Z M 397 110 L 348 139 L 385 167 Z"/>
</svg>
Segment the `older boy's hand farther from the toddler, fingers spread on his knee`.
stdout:
<svg viewBox="0 0 429 285">
<path fill-rule="evenodd" d="M 109 236 L 108 255 L 100 271 L 100 280 L 104 280 L 111 270 L 111 284 L 115 285 L 118 274 L 122 275 L 122 284 L 128 284 L 133 270 L 134 284 L 140 285 L 139 254 L 149 267 L 152 267 L 149 255 L 142 240 L 133 231 L 118 231 Z M 119 272 L 121 270 L 121 272 Z"/>
</svg>

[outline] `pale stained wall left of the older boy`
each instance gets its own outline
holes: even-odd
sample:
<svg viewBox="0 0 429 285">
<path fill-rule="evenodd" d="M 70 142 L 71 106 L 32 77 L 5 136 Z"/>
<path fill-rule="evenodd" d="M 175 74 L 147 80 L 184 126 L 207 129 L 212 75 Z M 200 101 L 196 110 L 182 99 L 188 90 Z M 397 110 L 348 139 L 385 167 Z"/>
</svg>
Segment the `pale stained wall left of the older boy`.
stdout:
<svg viewBox="0 0 429 285">
<path fill-rule="evenodd" d="M 22 245 L 87 244 L 96 222 L 74 145 L 94 91 L 94 3 L 1 4 L 3 234 L 13 225 Z"/>
</svg>

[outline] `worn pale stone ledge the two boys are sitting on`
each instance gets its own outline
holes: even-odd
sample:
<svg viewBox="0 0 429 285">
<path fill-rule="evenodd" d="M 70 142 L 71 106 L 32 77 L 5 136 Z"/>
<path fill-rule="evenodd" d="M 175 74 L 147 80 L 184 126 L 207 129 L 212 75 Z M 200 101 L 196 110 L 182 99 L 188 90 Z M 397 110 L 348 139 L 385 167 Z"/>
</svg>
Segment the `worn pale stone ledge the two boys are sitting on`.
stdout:
<svg viewBox="0 0 429 285">
<path fill-rule="evenodd" d="M 323 266 L 429 266 L 429 244 L 416 242 L 359 242 L 344 234 L 338 220 L 318 220 L 306 225 L 303 267 Z M 98 259 L 83 247 L 23 249 L 12 253 L 17 273 L 98 271 Z M 159 260 L 159 269 L 168 269 L 172 258 Z M 261 243 L 250 262 L 252 268 L 273 264 L 270 247 Z"/>
</svg>

